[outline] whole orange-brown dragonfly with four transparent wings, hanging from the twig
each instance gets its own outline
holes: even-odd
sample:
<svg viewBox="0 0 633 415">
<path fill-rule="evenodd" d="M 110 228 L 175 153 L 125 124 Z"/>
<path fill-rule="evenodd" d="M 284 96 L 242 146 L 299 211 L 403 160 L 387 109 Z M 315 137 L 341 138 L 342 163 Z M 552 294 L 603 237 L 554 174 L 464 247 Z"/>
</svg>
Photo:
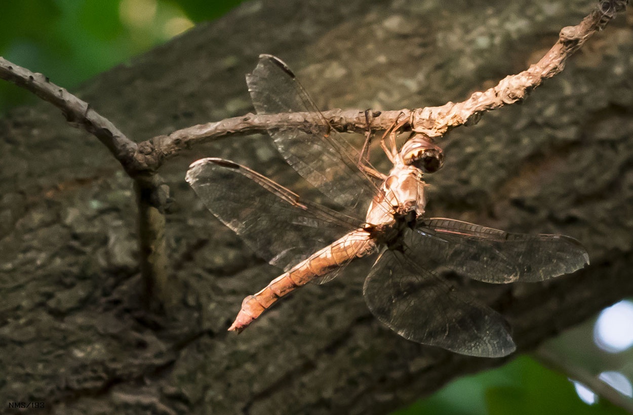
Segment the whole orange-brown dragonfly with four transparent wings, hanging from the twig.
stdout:
<svg viewBox="0 0 633 415">
<path fill-rule="evenodd" d="M 413 342 L 501 357 L 516 349 L 505 318 L 437 270 L 486 283 L 540 282 L 589 264 L 584 247 L 563 235 L 426 218 L 424 178 L 442 167 L 444 156 L 415 133 L 398 149 L 405 121 L 380 139 L 392 163 L 384 174 L 368 161 L 370 133 L 360 150 L 346 141 L 279 58 L 261 55 L 246 80 L 258 114 L 305 117 L 299 127 L 275 125 L 268 133 L 285 161 L 336 208 L 305 200 L 233 161 L 191 164 L 186 180 L 211 213 L 258 256 L 284 269 L 244 299 L 229 330 L 244 330 L 280 297 L 308 282 L 331 281 L 349 263 L 373 255 L 363 295 L 384 325 Z"/>
</svg>

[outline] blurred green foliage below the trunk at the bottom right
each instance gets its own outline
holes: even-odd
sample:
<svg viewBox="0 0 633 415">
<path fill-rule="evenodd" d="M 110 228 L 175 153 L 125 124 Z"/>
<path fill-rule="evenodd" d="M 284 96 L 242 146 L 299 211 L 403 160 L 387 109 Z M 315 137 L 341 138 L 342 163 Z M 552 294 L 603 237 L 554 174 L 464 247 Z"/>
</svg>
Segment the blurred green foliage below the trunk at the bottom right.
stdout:
<svg viewBox="0 0 633 415">
<path fill-rule="evenodd" d="M 429 398 L 392 415 L 619 415 L 605 399 L 587 405 L 567 377 L 527 356 L 505 366 L 458 379 Z"/>
</svg>

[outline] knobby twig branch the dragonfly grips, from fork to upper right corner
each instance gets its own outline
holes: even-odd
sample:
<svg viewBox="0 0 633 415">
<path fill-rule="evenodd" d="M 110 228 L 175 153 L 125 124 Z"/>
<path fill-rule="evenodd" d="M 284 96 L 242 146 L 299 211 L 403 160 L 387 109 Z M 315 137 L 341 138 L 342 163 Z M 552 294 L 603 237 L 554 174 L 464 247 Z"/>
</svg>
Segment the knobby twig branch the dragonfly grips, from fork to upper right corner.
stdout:
<svg viewBox="0 0 633 415">
<path fill-rule="evenodd" d="M 603 0 L 598 7 L 578 25 L 565 27 L 560 31 L 556 44 L 536 64 L 516 75 L 510 75 L 498 85 L 484 92 L 475 92 L 463 102 L 447 102 L 442 106 L 397 111 L 375 111 L 373 130 L 386 130 L 399 116 L 409 116 L 410 123 L 404 129 L 439 138 L 448 130 L 460 125 L 472 125 L 479 121 L 482 113 L 513 104 L 523 99 L 527 93 L 551 78 L 565 66 L 565 61 L 594 33 L 605 27 L 615 15 L 626 8 L 627 0 Z M 366 132 L 367 120 L 362 109 L 332 109 L 323 115 L 332 127 L 341 132 Z M 178 154 L 198 142 L 206 142 L 229 135 L 264 133 L 275 128 L 309 128 L 313 117 L 306 113 L 275 115 L 247 114 L 227 118 L 215 123 L 196 125 L 161 135 L 139 144 L 137 161 L 149 169 L 158 168 L 165 159 Z"/>
</svg>

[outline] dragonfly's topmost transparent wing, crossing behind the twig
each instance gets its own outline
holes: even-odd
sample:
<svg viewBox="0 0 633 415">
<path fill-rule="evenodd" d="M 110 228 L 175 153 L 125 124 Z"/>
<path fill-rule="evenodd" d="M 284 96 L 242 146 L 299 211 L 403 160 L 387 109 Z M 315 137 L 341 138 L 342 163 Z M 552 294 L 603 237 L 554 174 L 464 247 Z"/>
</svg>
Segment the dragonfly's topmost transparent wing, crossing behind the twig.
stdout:
<svg viewBox="0 0 633 415">
<path fill-rule="evenodd" d="M 358 151 L 330 128 L 294 73 L 279 58 L 263 54 L 246 83 L 258 114 L 305 114 L 303 128 L 268 130 L 279 152 L 332 201 L 364 215 L 363 203 L 368 204 L 376 189 L 356 166 Z"/>
</svg>

